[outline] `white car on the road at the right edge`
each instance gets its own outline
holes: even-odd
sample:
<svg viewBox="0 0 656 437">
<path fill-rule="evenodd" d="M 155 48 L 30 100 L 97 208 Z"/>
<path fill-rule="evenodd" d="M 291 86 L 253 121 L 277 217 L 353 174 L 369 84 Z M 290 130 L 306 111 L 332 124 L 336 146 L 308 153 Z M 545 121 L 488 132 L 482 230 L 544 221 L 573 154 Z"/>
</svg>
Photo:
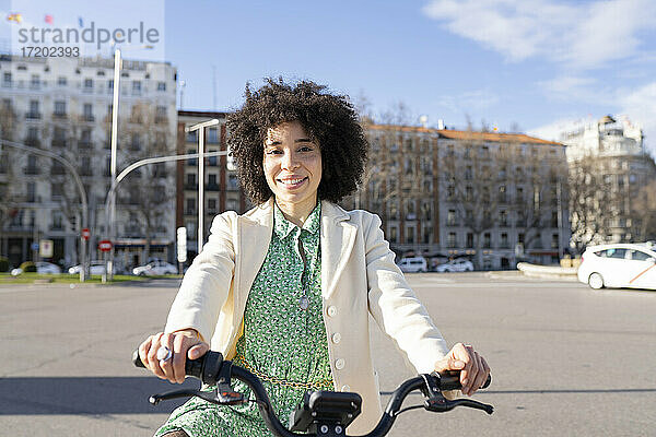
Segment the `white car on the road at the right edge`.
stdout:
<svg viewBox="0 0 656 437">
<path fill-rule="evenodd" d="M 591 246 L 581 257 L 578 281 L 595 290 L 656 290 L 656 248 L 647 244 Z"/>
</svg>

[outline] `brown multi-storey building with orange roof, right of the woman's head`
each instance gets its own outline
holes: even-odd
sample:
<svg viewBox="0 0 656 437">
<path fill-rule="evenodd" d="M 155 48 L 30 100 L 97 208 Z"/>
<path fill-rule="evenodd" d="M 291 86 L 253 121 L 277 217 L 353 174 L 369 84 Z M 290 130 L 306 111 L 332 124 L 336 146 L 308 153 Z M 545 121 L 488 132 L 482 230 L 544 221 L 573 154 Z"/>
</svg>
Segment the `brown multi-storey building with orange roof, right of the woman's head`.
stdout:
<svg viewBox="0 0 656 437">
<path fill-rule="evenodd" d="M 367 125 L 372 154 L 347 208 L 380 215 L 391 248 L 479 269 L 558 262 L 570 240 L 563 144 L 525 134 Z"/>
</svg>

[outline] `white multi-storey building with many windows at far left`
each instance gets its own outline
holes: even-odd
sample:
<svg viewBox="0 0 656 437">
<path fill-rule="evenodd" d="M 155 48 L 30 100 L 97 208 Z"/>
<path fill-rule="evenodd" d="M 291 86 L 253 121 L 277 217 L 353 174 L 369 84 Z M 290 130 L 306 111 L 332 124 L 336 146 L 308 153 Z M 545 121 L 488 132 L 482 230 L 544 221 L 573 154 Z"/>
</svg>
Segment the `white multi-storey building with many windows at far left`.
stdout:
<svg viewBox="0 0 656 437">
<path fill-rule="evenodd" d="M 0 138 L 52 152 L 75 167 L 89 202 L 92 259 L 99 257 L 97 241 L 107 237 L 104 203 L 110 186 L 113 79 L 113 59 L 0 56 Z M 122 61 L 119 172 L 139 158 L 175 153 L 175 90 L 176 70 L 168 62 Z M 51 261 L 78 263 L 82 206 L 68 169 L 35 153 L 8 146 L 1 153 L 2 255 L 13 264 L 34 260 L 33 244 L 52 239 Z M 152 206 L 142 200 L 151 192 L 159 203 L 174 203 L 174 194 L 166 193 L 166 187 L 173 192 L 173 168 L 143 167 L 119 187 L 115 241 L 119 270 L 144 262 L 149 247 L 151 257 L 172 257 L 173 209 L 156 209 L 157 218 L 151 214 L 144 226 L 149 220 L 142 214 Z"/>
</svg>

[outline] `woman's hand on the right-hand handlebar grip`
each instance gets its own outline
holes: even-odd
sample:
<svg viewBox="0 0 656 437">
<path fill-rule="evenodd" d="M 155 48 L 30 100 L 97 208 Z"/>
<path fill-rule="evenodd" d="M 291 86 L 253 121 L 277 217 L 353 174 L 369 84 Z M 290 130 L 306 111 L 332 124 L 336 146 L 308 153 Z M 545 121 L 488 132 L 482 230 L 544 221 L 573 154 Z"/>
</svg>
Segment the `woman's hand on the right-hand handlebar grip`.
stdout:
<svg viewBox="0 0 656 437">
<path fill-rule="evenodd" d="M 472 395 L 481 388 L 488 376 L 490 367 L 481 355 L 471 345 L 456 344 L 448 354 L 435 363 L 437 373 L 445 370 L 460 370 L 460 383 L 462 393 Z"/>
</svg>

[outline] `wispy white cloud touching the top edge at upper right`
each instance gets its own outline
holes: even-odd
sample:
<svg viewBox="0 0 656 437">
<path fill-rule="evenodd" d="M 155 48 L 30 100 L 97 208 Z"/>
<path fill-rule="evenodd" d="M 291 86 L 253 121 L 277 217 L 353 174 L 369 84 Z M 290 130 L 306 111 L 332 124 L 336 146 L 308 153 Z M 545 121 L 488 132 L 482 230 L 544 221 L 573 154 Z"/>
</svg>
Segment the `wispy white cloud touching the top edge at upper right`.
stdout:
<svg viewBox="0 0 656 437">
<path fill-rule="evenodd" d="M 546 57 L 578 69 L 635 56 L 656 20 L 653 0 L 432 0 L 422 11 L 508 60 Z"/>
</svg>

